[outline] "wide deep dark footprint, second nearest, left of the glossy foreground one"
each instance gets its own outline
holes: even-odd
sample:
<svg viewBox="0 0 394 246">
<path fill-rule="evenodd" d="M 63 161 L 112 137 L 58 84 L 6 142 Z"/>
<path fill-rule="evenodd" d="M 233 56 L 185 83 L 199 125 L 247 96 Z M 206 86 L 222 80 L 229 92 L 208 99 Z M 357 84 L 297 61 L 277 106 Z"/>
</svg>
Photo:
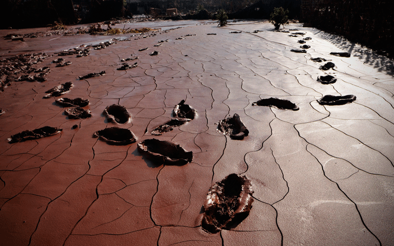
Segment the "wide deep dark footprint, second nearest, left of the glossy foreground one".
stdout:
<svg viewBox="0 0 394 246">
<path fill-rule="evenodd" d="M 179 144 L 155 138 L 139 143 L 138 150 L 160 164 L 185 165 L 193 160 L 193 152 L 187 152 Z"/>
</svg>

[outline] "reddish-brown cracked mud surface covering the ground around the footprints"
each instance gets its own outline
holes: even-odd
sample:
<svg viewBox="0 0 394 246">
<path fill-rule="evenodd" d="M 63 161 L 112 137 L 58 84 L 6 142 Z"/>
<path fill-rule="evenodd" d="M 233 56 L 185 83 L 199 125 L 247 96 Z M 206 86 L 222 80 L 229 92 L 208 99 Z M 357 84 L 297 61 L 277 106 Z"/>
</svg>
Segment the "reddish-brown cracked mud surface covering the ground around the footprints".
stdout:
<svg viewBox="0 0 394 246">
<path fill-rule="evenodd" d="M 394 245 L 393 61 L 302 24 L 292 23 L 285 31 L 310 36 L 307 53 L 291 52 L 299 37 L 276 32 L 268 22 L 232 24 L 128 24 L 163 29 L 147 38 L 116 36 L 129 40 L 92 48 L 88 56 L 73 47 L 112 37 L 1 39 L 1 58 L 26 50 L 52 56 L 32 65 L 50 67 L 45 82 L 12 81 L 0 92 L 5 112 L 0 115 L 1 244 Z M 166 30 L 168 25 L 181 28 Z M 263 32 L 253 33 L 257 29 Z M 11 31 L 16 30 L 0 34 Z M 190 33 L 196 35 L 186 36 Z M 142 50 L 146 47 L 150 50 Z M 56 67 L 55 52 L 63 50 L 71 53 L 67 62 L 72 64 Z M 151 50 L 160 55 L 150 56 Z M 332 51 L 351 57 L 329 55 Z M 138 56 L 138 66 L 117 70 L 130 54 Z M 311 58 L 330 60 L 335 70 L 322 71 Z M 106 75 L 78 79 L 100 71 Z M 323 75 L 336 83 L 317 82 Z M 88 99 L 92 117 L 69 120 L 63 107 L 42 98 L 66 82 L 73 83 L 67 97 Z M 328 94 L 354 94 L 357 100 L 320 105 L 317 100 Z M 252 106 L 270 97 L 289 100 L 299 110 Z M 198 117 L 153 136 L 147 129 L 173 119 L 173 107 L 181 100 Z M 132 121 L 122 128 L 138 142 L 155 137 L 177 143 L 193 152 L 193 160 L 160 165 L 140 153 L 136 143 L 112 145 L 93 138 L 113 126 L 102 115 L 112 104 L 130 112 Z M 250 131 L 242 141 L 216 132 L 215 123 L 235 113 Z M 63 131 L 7 141 L 44 126 Z M 253 208 L 235 227 L 211 234 L 201 227 L 201 209 L 209 188 L 230 174 L 250 181 Z"/>
</svg>

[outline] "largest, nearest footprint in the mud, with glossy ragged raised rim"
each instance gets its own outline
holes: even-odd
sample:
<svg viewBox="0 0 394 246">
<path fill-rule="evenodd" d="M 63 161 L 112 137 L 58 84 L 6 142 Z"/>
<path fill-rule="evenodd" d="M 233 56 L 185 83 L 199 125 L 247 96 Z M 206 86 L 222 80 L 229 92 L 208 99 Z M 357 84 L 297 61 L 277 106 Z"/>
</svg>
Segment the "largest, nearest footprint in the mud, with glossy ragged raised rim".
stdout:
<svg viewBox="0 0 394 246">
<path fill-rule="evenodd" d="M 210 233 L 235 228 L 250 213 L 253 190 L 245 176 L 230 174 L 209 189 L 203 205 L 201 226 Z"/>
</svg>

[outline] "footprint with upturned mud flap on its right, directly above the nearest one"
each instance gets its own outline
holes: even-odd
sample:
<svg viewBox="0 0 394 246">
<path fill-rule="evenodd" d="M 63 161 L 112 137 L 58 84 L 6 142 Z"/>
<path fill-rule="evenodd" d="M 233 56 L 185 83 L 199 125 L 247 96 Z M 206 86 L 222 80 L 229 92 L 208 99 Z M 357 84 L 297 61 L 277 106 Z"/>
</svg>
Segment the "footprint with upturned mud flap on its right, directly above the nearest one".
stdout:
<svg viewBox="0 0 394 246">
<path fill-rule="evenodd" d="M 219 121 L 216 131 L 218 133 L 229 135 L 231 139 L 242 140 L 249 134 L 249 130 L 238 114 L 234 114 L 231 118 Z"/>
</svg>

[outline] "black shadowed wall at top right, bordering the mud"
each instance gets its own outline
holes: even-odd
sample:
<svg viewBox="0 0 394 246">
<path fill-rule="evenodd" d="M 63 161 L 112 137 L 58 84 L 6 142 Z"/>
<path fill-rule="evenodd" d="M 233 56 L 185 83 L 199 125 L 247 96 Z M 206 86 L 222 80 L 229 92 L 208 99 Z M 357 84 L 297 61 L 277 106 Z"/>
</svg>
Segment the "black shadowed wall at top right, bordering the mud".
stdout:
<svg viewBox="0 0 394 246">
<path fill-rule="evenodd" d="M 300 21 L 394 55 L 393 0 L 302 0 Z"/>
</svg>

